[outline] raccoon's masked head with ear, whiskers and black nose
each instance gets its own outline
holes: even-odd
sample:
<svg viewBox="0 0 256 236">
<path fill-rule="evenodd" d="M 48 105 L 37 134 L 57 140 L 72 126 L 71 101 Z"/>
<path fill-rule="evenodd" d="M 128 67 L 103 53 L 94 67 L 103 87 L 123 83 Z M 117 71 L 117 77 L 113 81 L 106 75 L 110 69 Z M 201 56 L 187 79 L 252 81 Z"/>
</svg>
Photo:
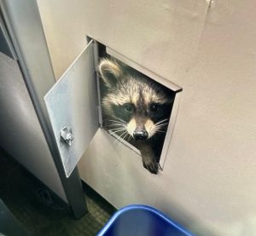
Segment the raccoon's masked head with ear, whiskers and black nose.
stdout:
<svg viewBox="0 0 256 236">
<path fill-rule="evenodd" d="M 117 60 L 102 60 L 99 72 L 107 87 L 103 112 L 116 125 L 113 131 L 135 140 L 166 132 L 173 102 L 168 89 Z"/>
</svg>

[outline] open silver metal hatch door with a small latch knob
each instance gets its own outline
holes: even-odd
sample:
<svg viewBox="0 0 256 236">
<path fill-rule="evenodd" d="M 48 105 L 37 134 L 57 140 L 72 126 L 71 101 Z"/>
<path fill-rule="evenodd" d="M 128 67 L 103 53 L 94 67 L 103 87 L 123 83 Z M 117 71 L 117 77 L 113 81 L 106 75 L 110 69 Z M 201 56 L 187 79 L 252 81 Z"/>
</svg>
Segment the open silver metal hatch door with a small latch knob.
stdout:
<svg viewBox="0 0 256 236">
<path fill-rule="evenodd" d="M 70 176 L 99 127 L 93 42 L 55 83 L 44 101 L 66 176 Z"/>
</svg>

